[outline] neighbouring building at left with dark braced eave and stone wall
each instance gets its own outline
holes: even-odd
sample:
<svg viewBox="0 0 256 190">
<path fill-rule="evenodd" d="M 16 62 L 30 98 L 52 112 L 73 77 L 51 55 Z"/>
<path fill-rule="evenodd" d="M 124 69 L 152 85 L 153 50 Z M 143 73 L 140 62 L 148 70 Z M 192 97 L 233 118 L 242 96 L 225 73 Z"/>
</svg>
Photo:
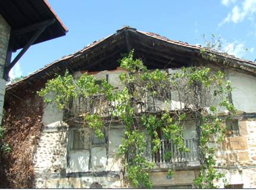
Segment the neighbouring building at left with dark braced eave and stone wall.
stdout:
<svg viewBox="0 0 256 190">
<path fill-rule="evenodd" d="M 11 68 L 33 44 L 64 36 L 67 28 L 47 0 L 0 1 L 0 124 Z M 11 54 L 20 53 L 12 60 Z"/>
</svg>

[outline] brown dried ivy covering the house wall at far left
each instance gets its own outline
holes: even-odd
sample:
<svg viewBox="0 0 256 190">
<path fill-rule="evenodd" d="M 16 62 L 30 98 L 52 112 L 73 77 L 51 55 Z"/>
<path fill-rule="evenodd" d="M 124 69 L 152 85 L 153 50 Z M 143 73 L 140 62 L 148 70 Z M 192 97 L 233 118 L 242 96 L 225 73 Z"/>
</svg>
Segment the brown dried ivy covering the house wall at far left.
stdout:
<svg viewBox="0 0 256 190">
<path fill-rule="evenodd" d="M 36 89 L 39 86 L 6 97 L 4 127 L 0 127 L 1 188 L 33 188 L 33 156 L 43 128 L 43 100 Z"/>
</svg>

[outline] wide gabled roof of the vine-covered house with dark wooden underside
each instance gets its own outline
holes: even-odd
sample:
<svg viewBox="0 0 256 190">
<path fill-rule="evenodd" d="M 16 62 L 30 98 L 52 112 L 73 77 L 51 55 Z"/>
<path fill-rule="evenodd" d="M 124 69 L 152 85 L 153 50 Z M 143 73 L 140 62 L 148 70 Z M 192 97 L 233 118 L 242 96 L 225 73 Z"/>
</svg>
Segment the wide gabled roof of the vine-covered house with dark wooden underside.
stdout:
<svg viewBox="0 0 256 190">
<path fill-rule="evenodd" d="M 182 41 L 169 40 L 158 34 L 124 27 L 116 31 L 115 34 L 94 41 L 84 49 L 64 56 L 31 73 L 26 78 L 8 85 L 7 92 L 18 89 L 23 85 L 31 86 L 35 83 L 42 83 L 43 85 L 44 81 L 53 78 L 56 73 L 62 73 L 66 69 L 70 72 L 115 69 L 119 66 L 116 60 L 121 58 L 122 53 L 128 53 L 131 49 L 135 49 L 135 57 L 143 59 L 148 69 L 194 66 L 193 62 L 197 61 L 195 59 L 204 59 L 200 53 L 201 46 L 193 46 Z M 228 54 L 212 53 L 216 55 L 216 60 L 212 60 L 214 63 L 256 76 L 256 64 L 254 62 Z M 210 61 L 207 60 L 207 62 Z"/>
</svg>

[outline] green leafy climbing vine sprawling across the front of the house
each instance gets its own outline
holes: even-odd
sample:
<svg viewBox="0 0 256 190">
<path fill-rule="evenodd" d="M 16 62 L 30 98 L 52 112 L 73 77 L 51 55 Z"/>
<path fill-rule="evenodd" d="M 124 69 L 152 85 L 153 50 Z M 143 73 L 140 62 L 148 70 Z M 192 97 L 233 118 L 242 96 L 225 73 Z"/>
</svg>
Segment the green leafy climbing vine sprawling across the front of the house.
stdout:
<svg viewBox="0 0 256 190">
<path fill-rule="evenodd" d="M 109 120 L 118 118 L 126 130 L 118 155 L 123 157 L 125 172 L 135 188 L 152 187 L 148 172 L 154 163 L 146 157 L 148 143 L 155 159 L 159 159 L 162 139 L 172 140 L 181 152 L 189 152 L 184 143 L 185 122 L 195 120 L 201 157 L 201 172 L 195 185 L 215 188 L 214 183 L 223 178 L 214 168 L 215 145 L 225 136 L 225 125 L 218 114 L 220 109 L 227 110 L 227 116 L 236 112 L 227 98 L 232 91 L 230 82 L 225 82 L 222 72 L 213 73 L 206 67 L 184 67 L 173 73 L 148 70 L 140 59 L 134 60 L 133 51 L 120 63 L 125 72 L 119 75 L 119 89 L 107 80 L 99 85 L 88 73 L 74 79 L 65 72 L 48 80 L 38 94 L 45 97 L 45 102 L 54 102 L 68 112 L 69 118 L 83 117 L 84 127 L 92 128 L 99 138 L 103 138 L 103 128 Z M 77 99 L 90 102 L 94 108 L 82 110 L 81 114 L 80 108 L 77 111 L 75 107 Z M 101 103 L 96 104 L 97 101 Z M 170 157 L 172 152 L 166 151 L 163 159 Z M 168 171 L 169 176 L 173 170 Z"/>
</svg>

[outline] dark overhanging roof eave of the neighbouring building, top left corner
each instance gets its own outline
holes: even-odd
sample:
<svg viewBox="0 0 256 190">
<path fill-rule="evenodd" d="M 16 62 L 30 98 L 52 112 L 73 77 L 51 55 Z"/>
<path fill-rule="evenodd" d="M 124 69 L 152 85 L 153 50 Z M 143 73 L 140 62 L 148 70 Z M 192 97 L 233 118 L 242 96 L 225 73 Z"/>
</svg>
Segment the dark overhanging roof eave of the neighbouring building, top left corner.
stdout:
<svg viewBox="0 0 256 190">
<path fill-rule="evenodd" d="M 55 19 L 56 21 L 46 28 L 34 44 L 64 36 L 68 32 L 47 0 L 0 0 L 0 14 L 12 30 L 19 30 L 42 21 Z M 29 31 L 15 36 L 14 50 L 24 47 L 33 34 L 34 31 Z"/>
</svg>

